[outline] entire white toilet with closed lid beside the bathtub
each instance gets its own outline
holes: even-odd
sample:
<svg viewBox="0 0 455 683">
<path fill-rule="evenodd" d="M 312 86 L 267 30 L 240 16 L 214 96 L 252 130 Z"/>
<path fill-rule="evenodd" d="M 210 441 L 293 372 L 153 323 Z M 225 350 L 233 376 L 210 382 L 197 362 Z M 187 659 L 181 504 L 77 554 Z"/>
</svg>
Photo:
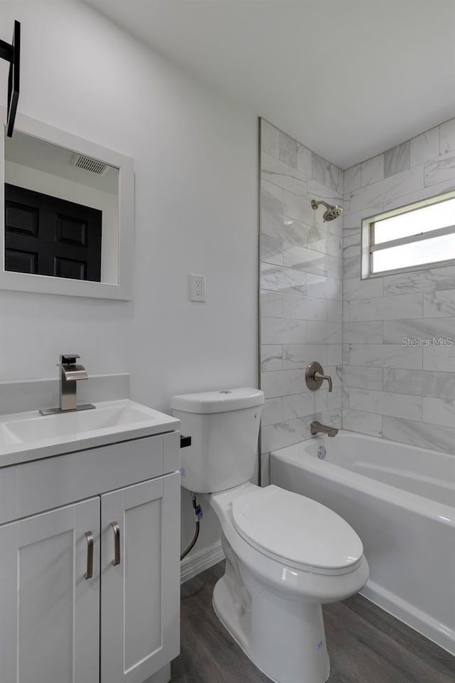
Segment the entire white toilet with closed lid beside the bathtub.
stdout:
<svg viewBox="0 0 455 683">
<path fill-rule="evenodd" d="M 221 623 L 276 683 L 325 683 L 330 672 L 321 605 L 368 579 L 355 531 L 318 502 L 250 483 L 262 391 L 173 396 L 182 433 L 181 484 L 206 494 L 220 520 L 226 568 L 213 591 Z"/>
</svg>

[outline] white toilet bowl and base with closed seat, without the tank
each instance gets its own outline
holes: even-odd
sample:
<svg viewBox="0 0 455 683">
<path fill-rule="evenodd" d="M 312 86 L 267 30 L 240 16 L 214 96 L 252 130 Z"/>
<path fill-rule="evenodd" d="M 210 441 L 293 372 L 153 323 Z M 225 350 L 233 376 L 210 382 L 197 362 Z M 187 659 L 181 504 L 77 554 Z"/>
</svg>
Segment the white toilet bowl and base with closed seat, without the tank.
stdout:
<svg viewBox="0 0 455 683">
<path fill-rule="evenodd" d="M 273 485 L 247 484 L 208 501 L 226 555 L 213 591 L 218 618 L 273 681 L 325 682 L 321 605 L 348 598 L 368 579 L 357 534 L 335 512 Z"/>
</svg>

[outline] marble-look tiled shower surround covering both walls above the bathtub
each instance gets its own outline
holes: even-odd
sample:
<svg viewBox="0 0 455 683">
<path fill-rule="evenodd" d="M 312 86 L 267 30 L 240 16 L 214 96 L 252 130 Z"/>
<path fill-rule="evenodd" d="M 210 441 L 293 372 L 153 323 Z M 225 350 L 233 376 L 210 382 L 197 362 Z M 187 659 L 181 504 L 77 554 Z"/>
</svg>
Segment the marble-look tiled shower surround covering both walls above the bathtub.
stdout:
<svg viewBox="0 0 455 683">
<path fill-rule="evenodd" d="M 360 280 L 362 218 L 455 189 L 455 119 L 344 173 L 264 120 L 261 148 L 262 452 L 319 419 L 455 453 L 455 265 Z M 343 182 L 323 223 L 311 198 L 341 203 Z M 333 393 L 306 389 L 312 360 Z"/>
</svg>

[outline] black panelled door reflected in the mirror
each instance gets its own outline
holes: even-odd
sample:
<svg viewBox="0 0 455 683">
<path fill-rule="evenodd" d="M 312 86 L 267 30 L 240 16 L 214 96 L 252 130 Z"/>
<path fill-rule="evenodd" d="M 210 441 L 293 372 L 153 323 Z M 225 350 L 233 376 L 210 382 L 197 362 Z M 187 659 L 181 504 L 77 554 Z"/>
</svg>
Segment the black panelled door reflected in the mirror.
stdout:
<svg viewBox="0 0 455 683">
<path fill-rule="evenodd" d="M 5 184 L 5 270 L 101 279 L 102 211 Z"/>
</svg>

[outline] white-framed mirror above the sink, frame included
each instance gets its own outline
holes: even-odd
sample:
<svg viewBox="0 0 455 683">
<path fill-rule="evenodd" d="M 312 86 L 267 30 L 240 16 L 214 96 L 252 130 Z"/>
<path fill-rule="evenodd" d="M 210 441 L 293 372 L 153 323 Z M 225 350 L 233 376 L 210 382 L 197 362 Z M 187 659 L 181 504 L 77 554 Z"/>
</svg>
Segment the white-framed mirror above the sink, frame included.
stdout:
<svg viewBox="0 0 455 683">
<path fill-rule="evenodd" d="M 131 299 L 132 159 L 23 116 L 1 142 L 0 286 Z"/>
</svg>

